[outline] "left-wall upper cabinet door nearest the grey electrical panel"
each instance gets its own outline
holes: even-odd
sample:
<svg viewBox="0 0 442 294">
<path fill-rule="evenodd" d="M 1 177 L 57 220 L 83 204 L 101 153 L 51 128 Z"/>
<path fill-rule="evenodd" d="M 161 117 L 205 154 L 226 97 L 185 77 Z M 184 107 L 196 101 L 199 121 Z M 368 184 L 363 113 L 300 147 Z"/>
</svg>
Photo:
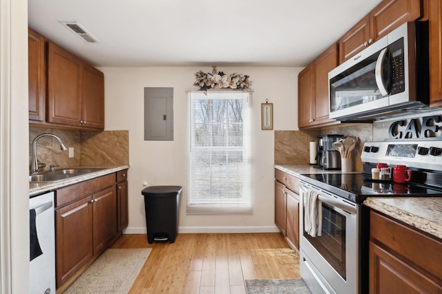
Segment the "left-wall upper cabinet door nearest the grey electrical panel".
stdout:
<svg viewBox="0 0 442 294">
<path fill-rule="evenodd" d="M 84 65 L 81 72 L 81 101 L 81 124 L 104 129 L 104 75 L 90 65 Z"/>
</svg>

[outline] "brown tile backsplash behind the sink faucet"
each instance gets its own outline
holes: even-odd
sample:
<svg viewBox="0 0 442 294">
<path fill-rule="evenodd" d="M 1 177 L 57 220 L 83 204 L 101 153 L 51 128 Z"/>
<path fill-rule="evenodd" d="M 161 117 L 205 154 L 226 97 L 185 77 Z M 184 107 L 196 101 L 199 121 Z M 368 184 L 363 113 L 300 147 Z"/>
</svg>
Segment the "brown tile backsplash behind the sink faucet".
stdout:
<svg viewBox="0 0 442 294">
<path fill-rule="evenodd" d="M 64 145 L 73 147 L 74 156 L 69 158 L 68 151 L 61 151 L 55 138 L 42 137 L 37 141 L 37 155 L 44 162 L 45 171 L 50 165 L 60 167 L 102 167 L 128 165 L 128 131 L 81 132 L 46 127 L 29 127 L 29 165 L 32 156 L 32 141 L 40 134 L 54 134 L 61 138 Z"/>
</svg>

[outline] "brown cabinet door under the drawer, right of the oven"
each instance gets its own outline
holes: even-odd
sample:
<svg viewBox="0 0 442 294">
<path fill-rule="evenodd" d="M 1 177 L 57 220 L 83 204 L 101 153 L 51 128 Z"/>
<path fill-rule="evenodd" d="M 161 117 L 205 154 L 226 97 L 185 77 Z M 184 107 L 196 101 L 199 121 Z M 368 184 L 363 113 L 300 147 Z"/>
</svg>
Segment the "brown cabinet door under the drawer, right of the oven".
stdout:
<svg viewBox="0 0 442 294">
<path fill-rule="evenodd" d="M 369 293 L 441 293 L 442 286 L 369 242 Z"/>
</svg>

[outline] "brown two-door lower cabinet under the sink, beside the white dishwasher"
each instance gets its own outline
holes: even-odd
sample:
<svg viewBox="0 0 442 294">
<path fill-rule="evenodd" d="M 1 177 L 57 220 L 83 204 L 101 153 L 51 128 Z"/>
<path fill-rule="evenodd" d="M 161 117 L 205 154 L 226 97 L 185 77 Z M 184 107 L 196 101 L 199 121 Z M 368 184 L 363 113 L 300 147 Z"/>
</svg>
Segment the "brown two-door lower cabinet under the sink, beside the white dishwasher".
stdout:
<svg viewBox="0 0 442 294">
<path fill-rule="evenodd" d="M 117 224 L 122 209 L 117 187 L 117 173 L 113 173 L 56 191 L 57 292 L 64 291 L 122 233 Z"/>
</svg>

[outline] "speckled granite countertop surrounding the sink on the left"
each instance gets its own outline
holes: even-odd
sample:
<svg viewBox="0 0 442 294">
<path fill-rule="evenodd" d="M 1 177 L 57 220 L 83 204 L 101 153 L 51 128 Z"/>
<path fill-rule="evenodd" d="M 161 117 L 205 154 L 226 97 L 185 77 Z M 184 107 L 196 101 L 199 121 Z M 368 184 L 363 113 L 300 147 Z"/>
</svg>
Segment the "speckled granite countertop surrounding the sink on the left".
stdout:
<svg viewBox="0 0 442 294">
<path fill-rule="evenodd" d="M 86 167 L 81 167 L 86 168 Z M 97 167 L 93 167 L 97 168 Z M 115 167 L 102 167 L 103 169 L 100 171 L 94 171 L 92 173 L 83 174 L 81 176 L 75 176 L 72 178 L 68 178 L 66 180 L 59 180 L 57 182 L 38 182 L 38 183 L 29 183 L 29 196 L 35 196 L 41 193 L 45 193 L 48 191 L 54 191 L 61 187 L 66 187 L 69 185 L 74 185 L 79 182 L 84 182 L 85 180 L 90 180 L 93 178 L 98 178 L 99 176 L 105 176 L 107 174 L 112 174 L 117 171 L 121 171 L 123 169 L 128 169 L 128 165 L 120 165 Z"/>
</svg>

